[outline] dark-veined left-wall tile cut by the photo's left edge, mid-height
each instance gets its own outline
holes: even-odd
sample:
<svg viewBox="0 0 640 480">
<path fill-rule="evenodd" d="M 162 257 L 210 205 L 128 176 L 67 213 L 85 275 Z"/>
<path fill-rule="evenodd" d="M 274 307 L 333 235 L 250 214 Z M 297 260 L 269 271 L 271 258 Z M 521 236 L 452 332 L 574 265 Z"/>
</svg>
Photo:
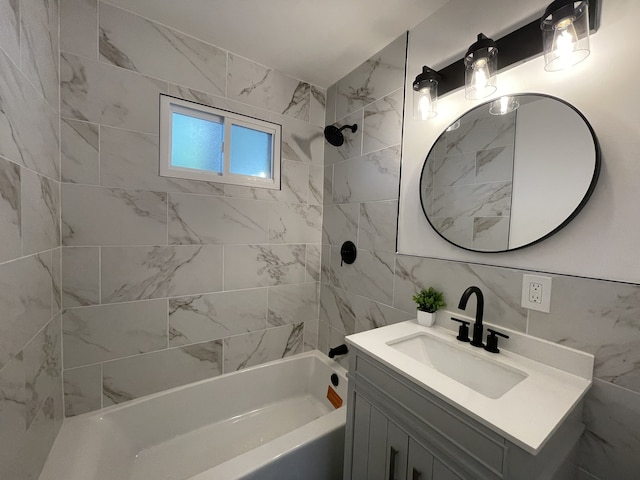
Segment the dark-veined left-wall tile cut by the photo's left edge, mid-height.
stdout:
<svg viewBox="0 0 640 480">
<path fill-rule="evenodd" d="M 22 255 L 20 167 L 0 158 L 0 262 Z"/>
</svg>

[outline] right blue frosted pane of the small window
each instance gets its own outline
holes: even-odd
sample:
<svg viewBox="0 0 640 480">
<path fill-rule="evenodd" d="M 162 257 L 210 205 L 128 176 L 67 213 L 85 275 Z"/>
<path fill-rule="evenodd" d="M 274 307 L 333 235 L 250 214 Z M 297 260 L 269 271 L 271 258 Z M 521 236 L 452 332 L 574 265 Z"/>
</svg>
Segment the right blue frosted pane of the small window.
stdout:
<svg viewBox="0 0 640 480">
<path fill-rule="evenodd" d="M 271 178 L 272 137 L 270 133 L 232 125 L 229 171 L 238 175 Z"/>
</svg>

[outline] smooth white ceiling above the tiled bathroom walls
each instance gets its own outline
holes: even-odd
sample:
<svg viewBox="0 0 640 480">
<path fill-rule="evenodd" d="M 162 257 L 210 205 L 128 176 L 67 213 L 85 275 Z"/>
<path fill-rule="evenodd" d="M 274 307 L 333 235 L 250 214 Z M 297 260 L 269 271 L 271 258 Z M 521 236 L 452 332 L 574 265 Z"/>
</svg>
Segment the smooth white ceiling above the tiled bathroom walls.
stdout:
<svg viewBox="0 0 640 480">
<path fill-rule="evenodd" d="M 109 0 L 328 87 L 449 0 Z"/>
</svg>

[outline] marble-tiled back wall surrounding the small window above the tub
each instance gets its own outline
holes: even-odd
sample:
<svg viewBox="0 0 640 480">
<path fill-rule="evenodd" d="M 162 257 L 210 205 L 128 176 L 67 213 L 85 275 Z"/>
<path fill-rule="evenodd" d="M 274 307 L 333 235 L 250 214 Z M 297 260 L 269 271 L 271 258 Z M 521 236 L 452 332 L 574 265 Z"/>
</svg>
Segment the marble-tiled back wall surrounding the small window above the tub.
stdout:
<svg viewBox="0 0 640 480">
<path fill-rule="evenodd" d="M 325 92 L 97 1 L 60 42 L 66 415 L 315 348 Z M 282 124 L 282 190 L 158 176 L 160 93 Z"/>
</svg>

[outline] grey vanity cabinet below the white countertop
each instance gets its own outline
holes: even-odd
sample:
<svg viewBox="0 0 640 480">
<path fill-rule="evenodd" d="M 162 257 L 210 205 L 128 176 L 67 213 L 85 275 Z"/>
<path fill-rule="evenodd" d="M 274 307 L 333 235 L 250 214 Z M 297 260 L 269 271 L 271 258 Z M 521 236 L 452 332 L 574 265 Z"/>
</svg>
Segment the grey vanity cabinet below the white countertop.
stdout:
<svg viewBox="0 0 640 480">
<path fill-rule="evenodd" d="M 531 455 L 365 352 L 350 353 L 344 480 L 569 480 L 580 409 Z"/>
</svg>

